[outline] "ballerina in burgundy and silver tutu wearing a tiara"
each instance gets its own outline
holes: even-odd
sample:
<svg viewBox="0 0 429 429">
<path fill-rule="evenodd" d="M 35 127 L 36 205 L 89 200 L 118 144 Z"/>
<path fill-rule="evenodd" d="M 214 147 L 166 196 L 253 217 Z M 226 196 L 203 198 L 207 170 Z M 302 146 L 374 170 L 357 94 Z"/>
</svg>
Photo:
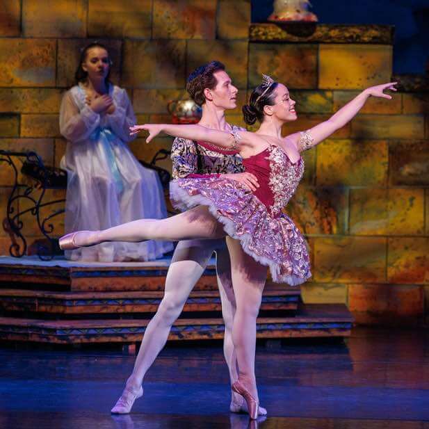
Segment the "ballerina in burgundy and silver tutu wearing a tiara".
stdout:
<svg viewBox="0 0 429 429">
<path fill-rule="evenodd" d="M 282 213 L 304 171 L 301 152 L 318 145 L 353 119 L 369 97 L 391 99 L 383 91 L 396 91 L 395 84 L 367 88 L 330 119 L 285 138 L 282 138 L 282 125 L 297 119 L 296 102 L 286 86 L 268 76 L 264 76 L 264 82 L 252 92 L 250 104 L 243 106 L 248 124 L 255 120 L 261 122 L 255 133 L 236 130 L 228 133 L 200 125 L 131 127 L 132 133 L 149 131 L 148 143 L 162 131 L 235 148 L 243 157 L 246 171 L 257 177 L 259 188 L 247 193 L 236 181 L 222 177 L 177 179 L 171 184 L 172 199 L 179 207 L 192 207 L 188 211 L 163 220 L 142 219 L 104 231 L 67 234 L 60 239 L 60 246 L 76 248 L 103 241 L 218 238 L 226 232 L 236 296 L 232 335 L 239 375 L 232 387 L 248 403 L 250 418 L 257 419 L 254 348 L 266 266 L 275 282 L 296 285 L 311 276 L 305 240 L 291 219 Z"/>
</svg>

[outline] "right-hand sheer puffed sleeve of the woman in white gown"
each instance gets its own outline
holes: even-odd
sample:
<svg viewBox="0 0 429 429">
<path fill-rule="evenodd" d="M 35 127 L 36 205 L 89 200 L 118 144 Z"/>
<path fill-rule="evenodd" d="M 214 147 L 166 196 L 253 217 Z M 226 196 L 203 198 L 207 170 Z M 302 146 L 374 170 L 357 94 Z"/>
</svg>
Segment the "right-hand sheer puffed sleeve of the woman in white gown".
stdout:
<svg viewBox="0 0 429 429">
<path fill-rule="evenodd" d="M 136 115 L 134 115 L 133 106 L 131 106 L 127 91 L 120 88 L 118 96 L 115 97 L 113 102 L 115 103 L 115 111 L 106 114 L 108 126 L 111 127 L 113 133 L 123 142 L 128 143 L 134 140 L 137 135 L 129 135 L 129 127 L 136 124 Z"/>
</svg>

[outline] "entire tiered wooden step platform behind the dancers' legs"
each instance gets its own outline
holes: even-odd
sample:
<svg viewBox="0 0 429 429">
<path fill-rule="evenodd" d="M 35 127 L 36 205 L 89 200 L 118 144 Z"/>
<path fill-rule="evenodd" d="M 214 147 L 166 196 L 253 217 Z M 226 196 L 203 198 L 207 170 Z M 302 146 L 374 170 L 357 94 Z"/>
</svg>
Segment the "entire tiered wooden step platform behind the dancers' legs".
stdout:
<svg viewBox="0 0 429 429">
<path fill-rule="evenodd" d="M 0 258 L 1 259 L 1 258 Z M 75 264 L 0 260 L 0 339 L 44 343 L 140 341 L 163 297 L 170 259 L 151 263 Z M 347 337 L 344 305 L 302 305 L 300 288 L 268 282 L 259 338 Z M 220 298 L 210 265 L 173 325 L 170 339 L 223 337 Z M 286 317 L 287 316 L 287 317 Z"/>
</svg>

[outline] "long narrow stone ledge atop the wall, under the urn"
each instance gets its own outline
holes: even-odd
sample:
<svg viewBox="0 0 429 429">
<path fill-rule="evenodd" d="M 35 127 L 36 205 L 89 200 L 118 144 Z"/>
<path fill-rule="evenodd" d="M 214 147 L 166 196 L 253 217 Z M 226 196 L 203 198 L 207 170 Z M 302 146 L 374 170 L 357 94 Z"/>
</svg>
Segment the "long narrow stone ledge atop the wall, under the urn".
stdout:
<svg viewBox="0 0 429 429">
<path fill-rule="evenodd" d="M 394 26 L 284 22 L 251 24 L 250 42 L 393 44 Z"/>
</svg>

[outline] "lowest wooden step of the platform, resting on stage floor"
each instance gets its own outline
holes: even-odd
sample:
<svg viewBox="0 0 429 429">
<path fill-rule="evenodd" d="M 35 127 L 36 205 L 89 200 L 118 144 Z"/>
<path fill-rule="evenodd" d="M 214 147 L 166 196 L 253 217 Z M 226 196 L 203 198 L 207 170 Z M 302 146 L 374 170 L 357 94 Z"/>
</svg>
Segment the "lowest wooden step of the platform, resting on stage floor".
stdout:
<svg viewBox="0 0 429 429">
<path fill-rule="evenodd" d="M 0 318 L 0 339 L 43 343 L 133 343 L 139 342 L 147 320 L 40 321 L 28 318 Z M 258 338 L 348 337 L 353 318 L 344 305 L 302 305 L 300 315 L 291 318 L 258 318 Z M 171 340 L 221 339 L 222 319 L 178 319 Z"/>
</svg>

